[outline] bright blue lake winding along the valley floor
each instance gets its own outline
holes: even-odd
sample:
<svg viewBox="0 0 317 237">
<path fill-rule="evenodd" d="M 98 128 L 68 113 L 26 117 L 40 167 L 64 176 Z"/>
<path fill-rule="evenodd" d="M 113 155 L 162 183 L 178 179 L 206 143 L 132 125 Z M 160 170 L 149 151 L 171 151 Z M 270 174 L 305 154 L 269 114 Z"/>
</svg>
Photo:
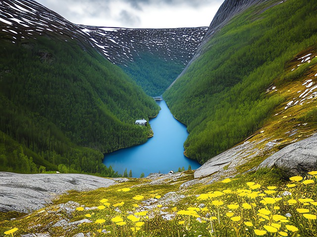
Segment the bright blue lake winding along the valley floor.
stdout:
<svg viewBox="0 0 317 237">
<path fill-rule="evenodd" d="M 164 100 L 157 101 L 161 110 L 156 118 L 150 119 L 154 137 L 142 145 L 121 149 L 104 158 L 104 164 L 112 166 L 114 171 L 123 174 L 125 168 L 133 177 L 140 177 L 141 173 L 168 173 L 178 168 L 197 169 L 200 164 L 183 155 L 183 144 L 188 136 L 186 126 L 176 120 L 170 113 Z"/>
</svg>

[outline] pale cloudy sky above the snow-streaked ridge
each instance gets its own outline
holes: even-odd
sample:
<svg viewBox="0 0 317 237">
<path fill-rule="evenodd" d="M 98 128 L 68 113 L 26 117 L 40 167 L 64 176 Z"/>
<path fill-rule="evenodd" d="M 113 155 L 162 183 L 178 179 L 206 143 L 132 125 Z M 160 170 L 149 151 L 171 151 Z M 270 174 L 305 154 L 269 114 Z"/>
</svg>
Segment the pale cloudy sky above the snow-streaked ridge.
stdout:
<svg viewBox="0 0 317 237">
<path fill-rule="evenodd" d="M 224 0 L 36 0 L 75 24 L 124 28 L 209 26 Z"/>
</svg>

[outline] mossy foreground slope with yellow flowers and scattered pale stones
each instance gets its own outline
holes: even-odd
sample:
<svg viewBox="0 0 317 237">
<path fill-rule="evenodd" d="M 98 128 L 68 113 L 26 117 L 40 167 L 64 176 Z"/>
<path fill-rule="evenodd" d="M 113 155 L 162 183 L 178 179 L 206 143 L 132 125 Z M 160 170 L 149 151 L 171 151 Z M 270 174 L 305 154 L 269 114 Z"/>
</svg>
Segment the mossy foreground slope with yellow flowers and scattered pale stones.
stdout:
<svg viewBox="0 0 317 237">
<path fill-rule="evenodd" d="M 186 171 L 187 174 L 189 171 Z M 317 235 L 317 171 L 261 169 L 187 189 L 147 179 L 70 192 L 30 215 L 2 213 L 0 233 L 51 236 L 256 237 Z M 174 181 L 172 181 L 174 180 Z M 149 182 L 149 183 L 148 183 Z M 10 220 L 15 217 L 17 219 Z M 78 222 L 79 221 L 79 222 Z M 81 233 L 81 234 L 80 234 Z"/>
</svg>

